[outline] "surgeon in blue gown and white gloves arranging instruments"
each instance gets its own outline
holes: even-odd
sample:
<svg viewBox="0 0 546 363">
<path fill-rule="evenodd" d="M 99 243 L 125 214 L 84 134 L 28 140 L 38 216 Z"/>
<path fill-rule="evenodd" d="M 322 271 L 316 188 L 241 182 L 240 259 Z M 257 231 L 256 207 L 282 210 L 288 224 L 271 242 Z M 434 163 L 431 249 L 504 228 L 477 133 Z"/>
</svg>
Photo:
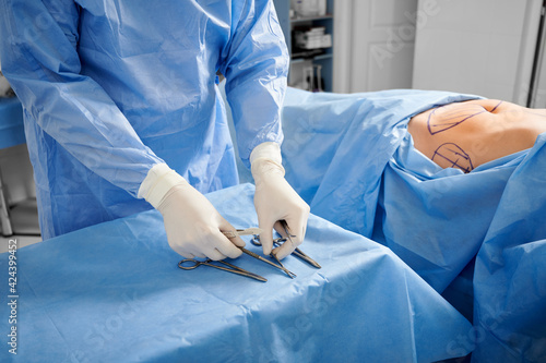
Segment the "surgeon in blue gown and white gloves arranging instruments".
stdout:
<svg viewBox="0 0 546 363">
<path fill-rule="evenodd" d="M 309 206 L 284 179 L 288 56 L 268 0 L 0 0 L 2 71 L 24 109 L 44 239 L 150 209 L 185 257 L 245 244 L 202 193 L 238 183 L 217 73 L 256 182 L 264 254 Z"/>
</svg>

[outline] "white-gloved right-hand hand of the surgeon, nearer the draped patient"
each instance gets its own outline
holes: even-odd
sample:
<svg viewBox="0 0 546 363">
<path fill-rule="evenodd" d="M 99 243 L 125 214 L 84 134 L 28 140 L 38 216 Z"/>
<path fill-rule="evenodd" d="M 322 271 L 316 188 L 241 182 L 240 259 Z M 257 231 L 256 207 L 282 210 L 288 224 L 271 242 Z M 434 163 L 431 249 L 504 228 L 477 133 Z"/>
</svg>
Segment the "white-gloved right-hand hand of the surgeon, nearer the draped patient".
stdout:
<svg viewBox="0 0 546 363">
<path fill-rule="evenodd" d="M 278 259 L 289 255 L 301 242 L 307 229 L 309 205 L 294 191 L 284 179 L 281 148 L 276 143 L 258 145 L 250 154 L 256 193 L 254 207 L 258 222 L 263 232 L 260 242 L 263 253 L 269 255 L 273 249 L 273 228 L 286 237 L 277 221 L 285 220 L 292 237 L 282 246 L 274 250 Z"/>
</svg>

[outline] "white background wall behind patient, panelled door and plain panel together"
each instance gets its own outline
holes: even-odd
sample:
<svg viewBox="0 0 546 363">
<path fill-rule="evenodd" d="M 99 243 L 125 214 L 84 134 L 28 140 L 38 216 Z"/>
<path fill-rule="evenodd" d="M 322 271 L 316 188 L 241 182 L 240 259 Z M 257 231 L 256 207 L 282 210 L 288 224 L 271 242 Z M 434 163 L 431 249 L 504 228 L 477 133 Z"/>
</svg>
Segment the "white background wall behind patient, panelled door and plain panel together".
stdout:
<svg viewBox="0 0 546 363">
<path fill-rule="evenodd" d="M 525 106 L 542 3 L 337 0 L 334 92 L 441 89 Z"/>
</svg>

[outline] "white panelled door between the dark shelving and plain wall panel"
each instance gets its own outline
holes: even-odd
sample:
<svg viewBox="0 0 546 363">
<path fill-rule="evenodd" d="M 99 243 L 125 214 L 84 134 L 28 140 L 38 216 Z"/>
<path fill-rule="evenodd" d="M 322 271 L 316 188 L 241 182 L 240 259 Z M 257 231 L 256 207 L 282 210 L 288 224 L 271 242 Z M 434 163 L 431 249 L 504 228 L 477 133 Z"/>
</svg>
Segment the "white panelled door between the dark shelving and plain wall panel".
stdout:
<svg viewBox="0 0 546 363">
<path fill-rule="evenodd" d="M 411 88 L 417 0 L 337 0 L 334 92 Z"/>
</svg>

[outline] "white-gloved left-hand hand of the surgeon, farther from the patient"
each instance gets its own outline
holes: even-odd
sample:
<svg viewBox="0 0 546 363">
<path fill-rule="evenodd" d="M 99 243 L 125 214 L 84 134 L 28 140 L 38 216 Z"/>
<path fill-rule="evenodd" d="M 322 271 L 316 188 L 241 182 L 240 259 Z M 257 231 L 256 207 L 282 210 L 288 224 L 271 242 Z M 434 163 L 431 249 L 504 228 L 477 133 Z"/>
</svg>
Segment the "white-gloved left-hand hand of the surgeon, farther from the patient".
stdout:
<svg viewBox="0 0 546 363">
<path fill-rule="evenodd" d="M 186 179 L 165 164 L 154 166 L 141 184 L 139 197 L 144 197 L 163 215 L 170 247 L 187 257 L 209 257 L 214 261 L 236 258 L 245 246 L 236 229 L 214 208 L 211 202 Z M 228 239 L 223 232 L 235 232 Z"/>
</svg>

